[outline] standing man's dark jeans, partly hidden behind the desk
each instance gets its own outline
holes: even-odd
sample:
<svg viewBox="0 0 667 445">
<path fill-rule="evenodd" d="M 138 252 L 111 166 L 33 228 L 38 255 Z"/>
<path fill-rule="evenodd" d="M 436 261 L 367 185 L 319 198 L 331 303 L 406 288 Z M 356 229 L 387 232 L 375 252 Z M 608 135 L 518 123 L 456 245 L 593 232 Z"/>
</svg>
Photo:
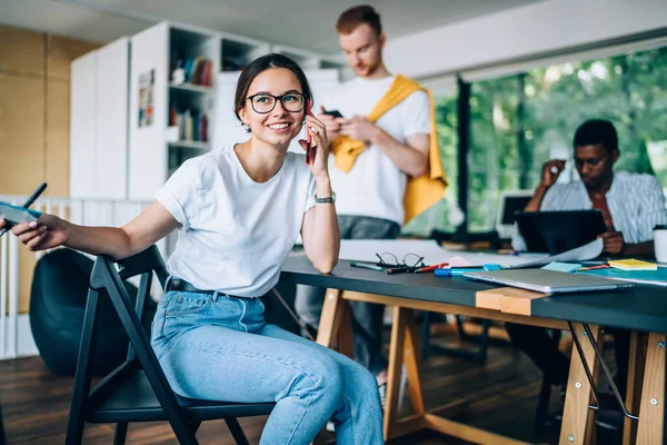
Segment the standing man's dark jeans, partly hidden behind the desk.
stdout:
<svg viewBox="0 0 667 445">
<path fill-rule="evenodd" d="M 394 221 L 366 216 L 338 216 L 341 239 L 396 239 L 400 226 Z M 378 253 L 378 254 L 381 254 Z M 400 258 L 399 258 L 400 259 Z M 295 308 L 301 320 L 313 330 L 319 327 L 326 289 L 298 285 Z M 352 333 L 355 359 L 378 375 L 387 367 L 382 356 L 382 316 L 385 306 L 372 303 L 350 301 L 352 307 Z"/>
</svg>

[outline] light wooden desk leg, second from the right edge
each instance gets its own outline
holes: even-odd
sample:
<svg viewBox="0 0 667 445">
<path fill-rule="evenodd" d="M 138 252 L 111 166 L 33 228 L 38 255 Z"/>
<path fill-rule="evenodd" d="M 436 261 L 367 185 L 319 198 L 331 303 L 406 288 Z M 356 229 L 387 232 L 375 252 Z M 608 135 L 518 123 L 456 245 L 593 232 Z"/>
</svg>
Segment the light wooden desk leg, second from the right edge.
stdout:
<svg viewBox="0 0 667 445">
<path fill-rule="evenodd" d="M 560 427 L 560 445 L 591 445 L 595 444 L 595 416 L 589 404 L 595 400 L 590 393 L 590 384 L 584 370 L 581 358 L 590 367 L 594 382 L 597 384 L 599 363 L 590 342 L 584 336 L 584 327 L 580 323 L 574 324 L 576 334 L 584 349 L 584 357 L 579 357 L 576 347 L 573 348 L 570 359 L 570 372 L 567 379 L 567 393 L 565 396 L 565 411 L 563 413 L 563 426 Z M 598 345 L 601 344 L 600 327 L 591 325 L 590 330 Z"/>
</svg>

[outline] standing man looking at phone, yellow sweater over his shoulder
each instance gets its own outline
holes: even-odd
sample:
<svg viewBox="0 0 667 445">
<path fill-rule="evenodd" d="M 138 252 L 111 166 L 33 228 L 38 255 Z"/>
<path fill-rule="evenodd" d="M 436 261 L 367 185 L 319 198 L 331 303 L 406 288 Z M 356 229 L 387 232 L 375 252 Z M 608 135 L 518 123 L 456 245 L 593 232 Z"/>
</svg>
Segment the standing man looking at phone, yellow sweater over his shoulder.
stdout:
<svg viewBox="0 0 667 445">
<path fill-rule="evenodd" d="M 348 9 L 336 29 L 357 77 L 323 99 L 317 118 L 326 125 L 335 151 L 329 171 L 338 198 L 340 235 L 342 239 L 397 238 L 406 216 L 406 184 L 429 168 L 431 103 L 424 90 L 404 89 L 399 101 L 379 110 L 392 96 L 388 91 L 400 89 L 405 85 L 401 80 L 411 81 L 389 73 L 385 67 L 386 37 L 372 7 Z M 377 119 L 369 119 L 374 115 Z M 347 150 L 336 151 L 338 142 L 357 144 L 352 159 L 345 158 Z M 299 286 L 297 290 L 297 313 L 313 330 L 323 297 L 325 289 Z M 387 360 L 381 353 L 382 315 L 384 306 L 352 301 L 356 359 L 376 375 L 384 396 Z"/>
</svg>

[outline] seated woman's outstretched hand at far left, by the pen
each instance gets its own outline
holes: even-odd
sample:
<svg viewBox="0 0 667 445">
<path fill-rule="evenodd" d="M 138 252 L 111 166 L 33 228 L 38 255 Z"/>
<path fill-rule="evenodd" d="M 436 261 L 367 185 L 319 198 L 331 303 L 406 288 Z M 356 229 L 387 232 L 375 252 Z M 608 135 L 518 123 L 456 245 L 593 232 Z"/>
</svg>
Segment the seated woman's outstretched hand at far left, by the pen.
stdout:
<svg viewBox="0 0 667 445">
<path fill-rule="evenodd" d="M 0 218 L 0 229 L 6 225 L 4 219 Z M 67 221 L 43 214 L 37 221 L 17 224 L 11 233 L 32 251 L 52 249 L 67 241 Z"/>
</svg>

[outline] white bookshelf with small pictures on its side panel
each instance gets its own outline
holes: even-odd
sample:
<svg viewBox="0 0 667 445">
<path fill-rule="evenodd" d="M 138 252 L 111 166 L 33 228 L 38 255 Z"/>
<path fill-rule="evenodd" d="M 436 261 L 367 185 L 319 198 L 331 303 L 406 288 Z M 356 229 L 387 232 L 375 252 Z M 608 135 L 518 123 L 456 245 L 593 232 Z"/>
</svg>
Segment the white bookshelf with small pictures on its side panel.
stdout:
<svg viewBox="0 0 667 445">
<path fill-rule="evenodd" d="M 131 39 L 129 196 L 151 199 L 180 164 L 210 149 L 221 41 L 217 32 L 168 22 Z M 185 79 L 173 77 L 177 68 Z M 139 119 L 140 79 L 151 70 L 153 118 L 146 122 Z M 180 123 L 177 140 L 168 135 L 173 123 Z"/>
</svg>

